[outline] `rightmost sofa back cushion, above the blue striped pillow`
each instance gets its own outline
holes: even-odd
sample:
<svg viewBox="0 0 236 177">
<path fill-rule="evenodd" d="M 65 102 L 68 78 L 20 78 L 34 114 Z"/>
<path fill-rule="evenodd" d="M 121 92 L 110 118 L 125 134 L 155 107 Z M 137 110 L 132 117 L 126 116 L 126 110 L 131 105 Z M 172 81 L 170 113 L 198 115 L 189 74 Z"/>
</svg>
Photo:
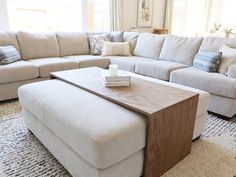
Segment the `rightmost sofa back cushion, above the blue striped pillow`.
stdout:
<svg viewBox="0 0 236 177">
<path fill-rule="evenodd" d="M 224 45 L 236 48 L 236 38 L 206 37 L 202 41 L 200 50 L 219 52 Z"/>
</svg>

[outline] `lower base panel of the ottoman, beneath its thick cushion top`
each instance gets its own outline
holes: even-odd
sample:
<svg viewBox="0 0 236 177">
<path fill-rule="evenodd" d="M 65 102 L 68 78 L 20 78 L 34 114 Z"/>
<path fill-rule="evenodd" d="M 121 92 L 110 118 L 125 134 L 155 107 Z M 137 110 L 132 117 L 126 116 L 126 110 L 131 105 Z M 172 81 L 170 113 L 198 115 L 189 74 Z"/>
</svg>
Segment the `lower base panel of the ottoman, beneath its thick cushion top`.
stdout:
<svg viewBox="0 0 236 177">
<path fill-rule="evenodd" d="M 143 150 L 111 167 L 97 169 L 81 158 L 69 145 L 65 144 L 28 110 L 23 109 L 23 117 L 27 128 L 34 133 L 74 177 L 139 177 L 142 175 Z"/>
</svg>

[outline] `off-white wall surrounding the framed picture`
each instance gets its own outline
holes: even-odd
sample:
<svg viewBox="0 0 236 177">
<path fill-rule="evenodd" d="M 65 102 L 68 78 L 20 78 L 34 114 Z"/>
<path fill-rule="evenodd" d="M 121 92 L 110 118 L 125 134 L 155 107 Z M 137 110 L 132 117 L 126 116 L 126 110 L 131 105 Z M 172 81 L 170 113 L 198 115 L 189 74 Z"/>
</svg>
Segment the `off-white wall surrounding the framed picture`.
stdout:
<svg viewBox="0 0 236 177">
<path fill-rule="evenodd" d="M 163 28 L 166 0 L 153 0 L 153 24 L 151 28 L 138 28 L 139 31 L 151 32 L 153 28 Z M 123 30 L 137 26 L 138 0 L 123 0 Z"/>
</svg>

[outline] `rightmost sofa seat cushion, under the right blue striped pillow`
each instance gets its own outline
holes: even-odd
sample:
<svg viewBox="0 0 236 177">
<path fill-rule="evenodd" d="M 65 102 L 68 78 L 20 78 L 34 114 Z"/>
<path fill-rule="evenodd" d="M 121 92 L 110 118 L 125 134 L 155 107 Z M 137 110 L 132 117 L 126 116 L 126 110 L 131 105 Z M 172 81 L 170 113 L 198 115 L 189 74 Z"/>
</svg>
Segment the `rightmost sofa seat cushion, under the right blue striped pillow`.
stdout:
<svg viewBox="0 0 236 177">
<path fill-rule="evenodd" d="M 205 90 L 211 94 L 236 98 L 236 79 L 219 73 L 208 73 L 197 68 L 184 68 L 173 71 L 170 82 Z"/>
</svg>

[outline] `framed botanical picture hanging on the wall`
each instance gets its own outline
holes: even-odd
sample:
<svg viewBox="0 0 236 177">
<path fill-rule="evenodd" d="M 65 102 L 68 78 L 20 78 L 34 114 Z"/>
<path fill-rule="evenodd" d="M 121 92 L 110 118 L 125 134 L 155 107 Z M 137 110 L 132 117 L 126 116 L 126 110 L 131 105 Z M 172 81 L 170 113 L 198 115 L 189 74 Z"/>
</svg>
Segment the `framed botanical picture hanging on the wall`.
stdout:
<svg viewBox="0 0 236 177">
<path fill-rule="evenodd" d="M 138 0 L 138 27 L 151 27 L 153 18 L 153 0 Z"/>
</svg>

